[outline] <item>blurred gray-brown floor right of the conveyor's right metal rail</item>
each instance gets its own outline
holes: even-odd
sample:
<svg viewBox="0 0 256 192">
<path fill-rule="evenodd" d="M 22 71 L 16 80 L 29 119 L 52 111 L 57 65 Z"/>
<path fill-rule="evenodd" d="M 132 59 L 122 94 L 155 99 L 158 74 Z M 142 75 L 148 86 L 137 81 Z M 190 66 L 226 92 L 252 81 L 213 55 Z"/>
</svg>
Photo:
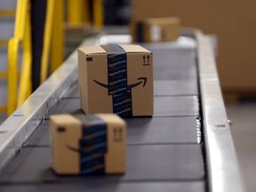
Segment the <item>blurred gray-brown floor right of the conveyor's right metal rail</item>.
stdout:
<svg viewBox="0 0 256 192">
<path fill-rule="evenodd" d="M 236 154 L 248 192 L 256 191 L 256 100 L 226 104 Z"/>
</svg>

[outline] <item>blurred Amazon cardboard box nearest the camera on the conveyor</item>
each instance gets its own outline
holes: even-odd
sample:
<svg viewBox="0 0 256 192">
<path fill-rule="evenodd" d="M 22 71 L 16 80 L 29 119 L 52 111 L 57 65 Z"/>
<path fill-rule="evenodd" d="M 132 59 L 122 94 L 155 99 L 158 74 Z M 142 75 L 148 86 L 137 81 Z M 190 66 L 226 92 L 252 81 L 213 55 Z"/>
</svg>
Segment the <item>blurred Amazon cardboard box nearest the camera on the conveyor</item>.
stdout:
<svg viewBox="0 0 256 192">
<path fill-rule="evenodd" d="M 125 172 L 126 124 L 113 114 L 51 116 L 52 169 L 58 174 Z"/>
</svg>

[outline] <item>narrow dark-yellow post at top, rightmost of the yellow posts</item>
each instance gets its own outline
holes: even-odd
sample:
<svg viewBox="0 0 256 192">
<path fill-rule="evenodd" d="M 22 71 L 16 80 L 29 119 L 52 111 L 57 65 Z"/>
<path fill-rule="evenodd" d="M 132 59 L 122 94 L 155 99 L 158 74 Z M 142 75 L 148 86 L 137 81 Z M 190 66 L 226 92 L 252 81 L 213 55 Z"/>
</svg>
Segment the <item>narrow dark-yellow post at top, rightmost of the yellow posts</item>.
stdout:
<svg viewBox="0 0 256 192">
<path fill-rule="evenodd" d="M 103 26 L 103 1 L 93 0 L 93 26 L 101 28 Z"/>
</svg>

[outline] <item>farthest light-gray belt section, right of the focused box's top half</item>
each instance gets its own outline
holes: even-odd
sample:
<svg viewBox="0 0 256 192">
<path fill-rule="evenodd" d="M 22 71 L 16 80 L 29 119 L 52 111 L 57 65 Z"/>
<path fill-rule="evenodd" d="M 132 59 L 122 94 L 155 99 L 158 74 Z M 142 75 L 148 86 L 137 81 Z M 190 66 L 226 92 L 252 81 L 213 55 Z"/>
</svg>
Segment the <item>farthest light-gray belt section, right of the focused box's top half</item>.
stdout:
<svg viewBox="0 0 256 192">
<path fill-rule="evenodd" d="M 196 43 L 185 38 L 179 46 L 168 44 L 142 44 L 153 52 L 154 79 L 197 79 Z M 186 44 L 188 43 L 188 44 Z"/>
</svg>

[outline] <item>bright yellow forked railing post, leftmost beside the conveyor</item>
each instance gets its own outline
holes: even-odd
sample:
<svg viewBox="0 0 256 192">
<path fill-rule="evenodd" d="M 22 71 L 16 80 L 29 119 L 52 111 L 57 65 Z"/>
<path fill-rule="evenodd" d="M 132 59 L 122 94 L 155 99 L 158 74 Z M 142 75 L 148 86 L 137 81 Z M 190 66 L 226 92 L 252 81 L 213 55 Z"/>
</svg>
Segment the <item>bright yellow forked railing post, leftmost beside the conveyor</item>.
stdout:
<svg viewBox="0 0 256 192">
<path fill-rule="evenodd" d="M 31 93 L 32 56 L 30 34 L 30 1 L 19 0 L 17 1 L 14 36 L 8 44 L 8 115 L 11 115 Z M 23 57 L 20 74 L 20 97 L 18 97 L 18 55 L 20 44 L 23 45 Z"/>
</svg>

